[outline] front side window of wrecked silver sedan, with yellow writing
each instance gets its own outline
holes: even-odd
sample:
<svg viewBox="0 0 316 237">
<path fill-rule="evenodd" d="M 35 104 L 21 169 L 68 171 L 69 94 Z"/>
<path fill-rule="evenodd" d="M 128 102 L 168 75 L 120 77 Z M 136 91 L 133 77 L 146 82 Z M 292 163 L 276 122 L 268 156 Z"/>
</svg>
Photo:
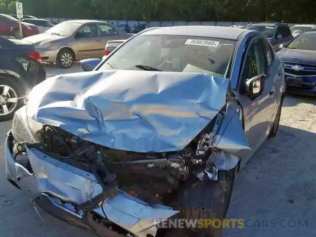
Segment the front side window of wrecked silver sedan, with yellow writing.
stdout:
<svg viewBox="0 0 316 237">
<path fill-rule="evenodd" d="M 242 72 L 242 80 L 247 80 L 267 73 L 266 61 L 262 50 L 262 40 L 256 40 L 249 48 Z"/>
</svg>

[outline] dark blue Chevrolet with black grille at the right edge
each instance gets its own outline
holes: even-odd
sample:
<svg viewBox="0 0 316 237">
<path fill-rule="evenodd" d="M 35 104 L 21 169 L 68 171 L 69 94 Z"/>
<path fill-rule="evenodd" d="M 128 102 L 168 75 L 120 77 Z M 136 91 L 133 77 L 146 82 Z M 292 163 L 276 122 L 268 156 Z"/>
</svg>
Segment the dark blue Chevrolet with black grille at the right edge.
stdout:
<svg viewBox="0 0 316 237">
<path fill-rule="evenodd" d="M 316 32 L 305 32 L 279 52 L 284 63 L 286 91 L 316 95 Z"/>
</svg>

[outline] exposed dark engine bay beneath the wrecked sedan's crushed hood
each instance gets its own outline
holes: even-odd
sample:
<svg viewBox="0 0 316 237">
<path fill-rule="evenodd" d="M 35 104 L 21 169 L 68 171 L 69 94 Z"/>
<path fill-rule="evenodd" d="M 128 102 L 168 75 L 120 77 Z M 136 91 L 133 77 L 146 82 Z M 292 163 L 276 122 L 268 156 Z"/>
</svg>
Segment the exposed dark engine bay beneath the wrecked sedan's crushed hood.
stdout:
<svg viewBox="0 0 316 237">
<path fill-rule="evenodd" d="M 204 130 L 213 128 L 215 120 Z M 202 131 L 182 151 L 137 153 L 103 147 L 51 125 L 37 132 L 42 151 L 149 204 L 170 203 L 174 192 L 194 177 L 192 171 L 205 167 L 212 153 L 212 149 L 200 151 L 205 139 L 209 140 L 206 135 L 209 133 Z"/>
</svg>

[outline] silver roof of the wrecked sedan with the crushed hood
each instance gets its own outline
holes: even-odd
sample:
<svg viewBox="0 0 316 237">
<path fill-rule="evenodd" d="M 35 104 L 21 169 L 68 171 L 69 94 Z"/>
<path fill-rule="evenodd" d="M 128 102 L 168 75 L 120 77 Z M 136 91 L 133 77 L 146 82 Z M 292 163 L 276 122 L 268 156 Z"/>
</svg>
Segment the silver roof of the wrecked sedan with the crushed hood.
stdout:
<svg viewBox="0 0 316 237">
<path fill-rule="evenodd" d="M 238 40 L 238 37 L 245 31 L 247 30 L 224 26 L 170 26 L 149 30 L 142 35 L 199 36 Z"/>
</svg>

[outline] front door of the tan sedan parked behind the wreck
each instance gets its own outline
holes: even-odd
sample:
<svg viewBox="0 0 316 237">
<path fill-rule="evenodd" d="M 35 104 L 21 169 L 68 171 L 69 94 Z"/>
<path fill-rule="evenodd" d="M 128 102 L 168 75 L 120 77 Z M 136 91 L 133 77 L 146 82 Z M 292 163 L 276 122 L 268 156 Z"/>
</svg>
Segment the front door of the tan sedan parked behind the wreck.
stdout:
<svg viewBox="0 0 316 237">
<path fill-rule="evenodd" d="M 75 35 L 77 59 L 100 58 L 100 39 L 97 25 L 88 23 L 83 25 Z"/>
</svg>

